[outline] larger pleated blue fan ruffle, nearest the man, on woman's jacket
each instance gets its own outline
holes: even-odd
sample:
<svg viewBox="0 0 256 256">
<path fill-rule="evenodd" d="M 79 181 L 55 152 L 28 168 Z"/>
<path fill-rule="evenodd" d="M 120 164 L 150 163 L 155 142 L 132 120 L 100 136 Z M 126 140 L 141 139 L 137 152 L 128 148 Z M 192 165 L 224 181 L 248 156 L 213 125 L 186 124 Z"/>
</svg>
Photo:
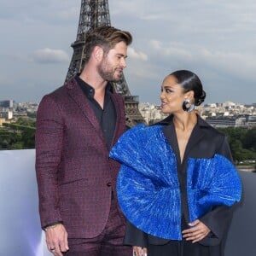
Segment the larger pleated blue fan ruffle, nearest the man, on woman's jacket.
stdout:
<svg viewBox="0 0 256 256">
<path fill-rule="evenodd" d="M 147 234 L 181 240 L 177 163 L 161 128 L 131 128 L 119 138 L 110 156 L 122 163 L 117 195 L 125 217 Z"/>
</svg>

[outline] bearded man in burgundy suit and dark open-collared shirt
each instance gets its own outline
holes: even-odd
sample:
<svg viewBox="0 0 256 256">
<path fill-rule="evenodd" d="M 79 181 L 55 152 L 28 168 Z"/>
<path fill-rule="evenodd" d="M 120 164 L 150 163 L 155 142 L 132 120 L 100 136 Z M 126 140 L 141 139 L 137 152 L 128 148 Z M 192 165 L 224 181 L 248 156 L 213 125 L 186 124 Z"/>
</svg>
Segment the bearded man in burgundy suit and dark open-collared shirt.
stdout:
<svg viewBox="0 0 256 256">
<path fill-rule="evenodd" d="M 38 108 L 36 172 L 39 212 L 57 256 L 128 256 L 125 219 L 115 183 L 119 164 L 109 149 L 125 131 L 123 98 L 113 92 L 132 38 L 97 27 L 85 42 L 82 73 L 44 96 Z"/>
</svg>

